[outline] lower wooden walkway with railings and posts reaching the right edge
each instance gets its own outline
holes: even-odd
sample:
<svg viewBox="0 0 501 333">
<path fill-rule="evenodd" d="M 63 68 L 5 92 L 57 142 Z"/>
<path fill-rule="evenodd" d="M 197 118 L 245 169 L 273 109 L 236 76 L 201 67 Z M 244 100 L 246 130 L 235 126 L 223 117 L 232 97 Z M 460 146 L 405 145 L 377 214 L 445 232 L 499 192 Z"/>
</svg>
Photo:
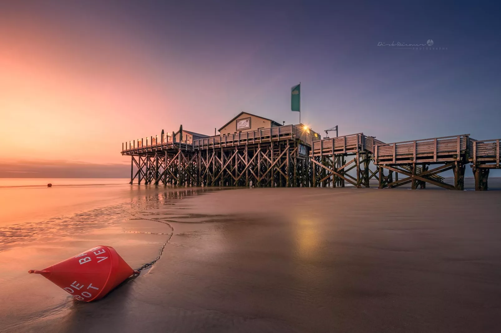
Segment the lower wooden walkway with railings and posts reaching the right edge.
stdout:
<svg viewBox="0 0 501 333">
<path fill-rule="evenodd" d="M 379 166 L 380 187 L 395 187 L 412 183 L 412 188 L 425 187 L 426 182 L 447 189 L 464 188 L 464 167 L 472 163 L 475 189 L 487 189 L 489 169 L 499 168 L 499 139 L 475 140 L 469 134 L 433 137 L 413 141 L 377 144 L 374 149 L 374 164 Z M 419 167 L 419 165 L 421 167 Z M 441 164 L 433 169 L 428 165 Z M 405 170 L 403 170 L 405 166 Z M 382 168 L 389 170 L 384 176 Z M 453 170 L 454 184 L 437 179 L 438 173 Z M 406 178 L 392 178 L 392 172 Z"/>
</svg>

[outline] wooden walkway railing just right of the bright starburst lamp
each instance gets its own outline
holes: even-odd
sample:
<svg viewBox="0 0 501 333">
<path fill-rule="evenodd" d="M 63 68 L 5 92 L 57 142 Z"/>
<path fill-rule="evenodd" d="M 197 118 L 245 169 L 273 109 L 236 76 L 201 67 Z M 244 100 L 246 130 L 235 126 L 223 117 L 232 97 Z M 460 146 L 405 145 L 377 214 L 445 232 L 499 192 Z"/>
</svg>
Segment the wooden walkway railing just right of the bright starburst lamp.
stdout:
<svg viewBox="0 0 501 333">
<path fill-rule="evenodd" d="M 383 144 L 373 136 L 356 133 L 313 141 L 310 156 L 336 155 L 363 152 L 373 152 L 374 145 Z"/>
</svg>

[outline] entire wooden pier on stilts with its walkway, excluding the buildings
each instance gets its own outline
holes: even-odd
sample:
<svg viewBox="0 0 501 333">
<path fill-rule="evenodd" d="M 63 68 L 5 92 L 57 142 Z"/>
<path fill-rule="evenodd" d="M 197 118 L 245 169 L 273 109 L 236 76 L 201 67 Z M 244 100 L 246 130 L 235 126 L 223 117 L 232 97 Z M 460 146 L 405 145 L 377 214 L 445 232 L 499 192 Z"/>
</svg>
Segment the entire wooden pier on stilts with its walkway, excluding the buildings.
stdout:
<svg viewBox="0 0 501 333">
<path fill-rule="evenodd" d="M 501 152 L 499 139 L 479 141 L 469 134 L 384 143 L 364 133 L 319 139 L 318 133 L 302 124 L 192 142 L 182 141 L 182 127 L 176 135 L 161 135 L 160 142 L 150 136 L 146 144 L 142 139 L 122 143 L 122 154 L 131 156 L 131 183 L 369 187 L 374 178 L 379 188 L 410 183 L 416 189 L 429 183 L 462 190 L 465 166 L 471 163 L 475 189 L 486 190 L 489 170 L 499 168 Z M 453 183 L 440 175 L 448 170 L 454 173 Z"/>
</svg>

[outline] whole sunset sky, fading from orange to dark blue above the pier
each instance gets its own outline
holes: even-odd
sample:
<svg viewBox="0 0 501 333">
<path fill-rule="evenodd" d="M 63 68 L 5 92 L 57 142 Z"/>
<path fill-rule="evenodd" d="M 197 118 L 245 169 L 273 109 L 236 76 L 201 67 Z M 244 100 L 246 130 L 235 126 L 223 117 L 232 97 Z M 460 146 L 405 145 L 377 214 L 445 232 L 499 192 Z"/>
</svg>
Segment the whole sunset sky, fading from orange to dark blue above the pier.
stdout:
<svg viewBox="0 0 501 333">
<path fill-rule="evenodd" d="M 299 81 L 322 134 L 501 137 L 498 3 L 240 2 L 0 2 L 0 177 L 127 177 L 122 142 L 161 129 L 298 123 Z M 428 39 L 446 49 L 378 46 Z"/>
</svg>

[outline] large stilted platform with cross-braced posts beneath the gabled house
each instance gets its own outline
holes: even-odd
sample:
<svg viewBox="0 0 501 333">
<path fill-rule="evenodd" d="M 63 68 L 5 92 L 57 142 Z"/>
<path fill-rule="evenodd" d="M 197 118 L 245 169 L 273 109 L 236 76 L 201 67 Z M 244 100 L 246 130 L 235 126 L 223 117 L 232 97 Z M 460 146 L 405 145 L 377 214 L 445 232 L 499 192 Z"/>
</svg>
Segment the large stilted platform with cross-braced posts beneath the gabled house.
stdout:
<svg viewBox="0 0 501 333">
<path fill-rule="evenodd" d="M 131 183 L 179 186 L 309 186 L 308 150 L 313 132 L 294 125 L 195 139 L 191 143 L 156 143 L 154 137 L 136 146 L 131 156 Z M 318 135 L 318 134 L 317 134 Z"/>
</svg>

